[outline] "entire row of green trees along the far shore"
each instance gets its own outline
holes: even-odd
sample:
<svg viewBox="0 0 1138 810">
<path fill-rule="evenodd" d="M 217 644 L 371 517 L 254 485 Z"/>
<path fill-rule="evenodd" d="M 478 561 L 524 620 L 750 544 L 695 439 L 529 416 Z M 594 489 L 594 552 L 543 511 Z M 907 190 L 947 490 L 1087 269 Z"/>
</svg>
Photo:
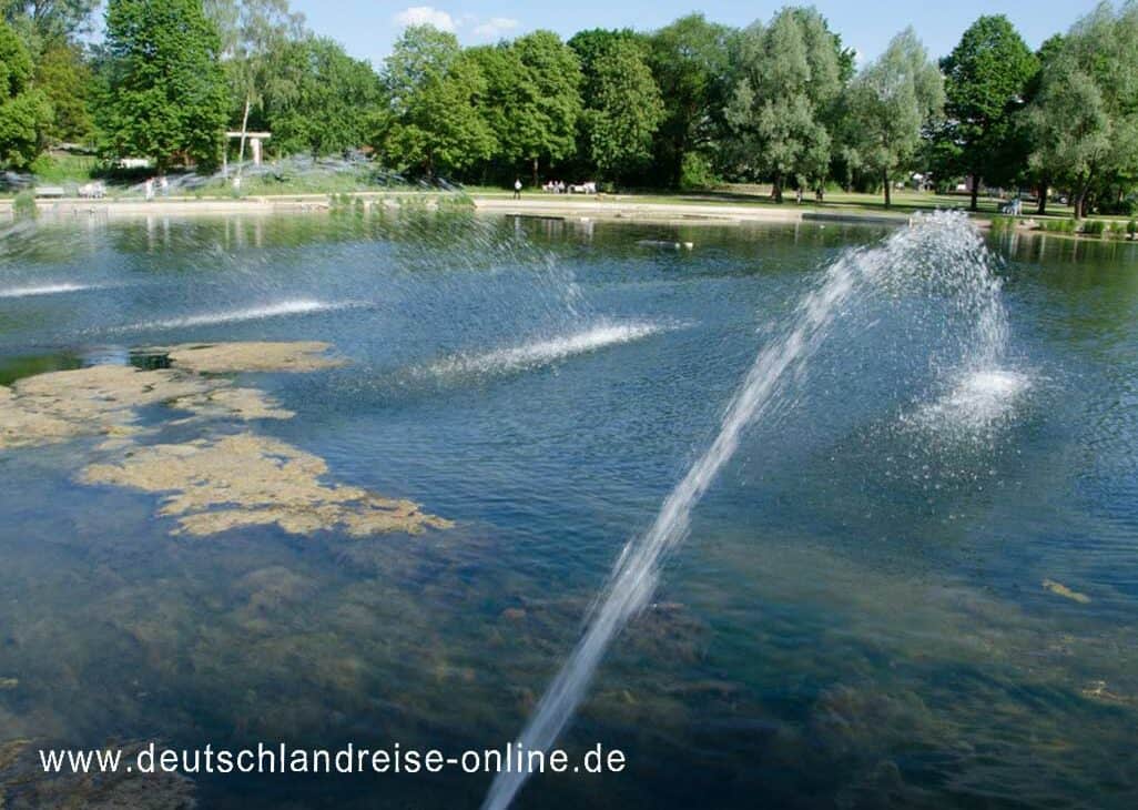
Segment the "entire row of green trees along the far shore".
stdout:
<svg viewBox="0 0 1138 810">
<path fill-rule="evenodd" d="M 463 48 L 404 30 L 379 69 L 310 31 L 288 0 L 0 0 L 0 164 L 91 144 L 158 171 L 363 149 L 409 175 L 521 176 L 694 189 L 769 183 L 1067 195 L 1075 215 L 1132 213 L 1138 190 L 1138 0 L 1098 6 L 1032 51 L 1001 15 L 930 57 L 912 28 L 876 59 L 813 8 L 734 28 L 690 15 L 653 32 L 537 31 Z"/>
</svg>

